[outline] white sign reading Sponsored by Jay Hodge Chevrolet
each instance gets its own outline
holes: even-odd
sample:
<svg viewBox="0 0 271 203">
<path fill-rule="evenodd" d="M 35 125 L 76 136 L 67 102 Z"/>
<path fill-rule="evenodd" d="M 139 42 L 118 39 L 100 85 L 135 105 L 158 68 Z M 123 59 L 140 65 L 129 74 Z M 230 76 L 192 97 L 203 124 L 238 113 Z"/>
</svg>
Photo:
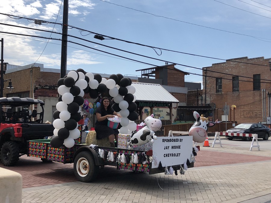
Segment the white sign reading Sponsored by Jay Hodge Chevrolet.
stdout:
<svg viewBox="0 0 271 203">
<path fill-rule="evenodd" d="M 173 166 L 190 161 L 193 147 L 192 136 L 157 137 L 152 145 L 154 162 L 151 168 L 158 168 L 161 161 L 162 166 Z"/>
</svg>

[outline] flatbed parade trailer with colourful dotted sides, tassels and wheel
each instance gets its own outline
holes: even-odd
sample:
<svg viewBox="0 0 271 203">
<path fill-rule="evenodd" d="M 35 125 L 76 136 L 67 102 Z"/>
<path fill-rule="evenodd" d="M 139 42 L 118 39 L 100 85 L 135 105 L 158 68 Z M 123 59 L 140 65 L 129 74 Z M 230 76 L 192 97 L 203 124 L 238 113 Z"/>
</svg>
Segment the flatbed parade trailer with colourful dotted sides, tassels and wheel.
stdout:
<svg viewBox="0 0 271 203">
<path fill-rule="evenodd" d="M 186 137 L 186 143 L 181 143 Z M 50 140 L 30 140 L 28 141 L 28 154 L 27 156 L 41 158 L 42 161 L 56 161 L 63 164 L 73 163 L 73 170 L 76 178 L 81 182 L 89 182 L 96 178 L 99 168 L 104 167 L 105 165 L 115 166 L 117 170 L 126 169 L 136 172 L 147 172 L 149 174 L 164 173 L 165 167 L 168 169 L 170 166 L 173 170 L 179 170 L 186 160 L 190 161 L 192 156 L 192 136 L 184 137 L 158 137 L 160 143 L 165 143 L 169 145 L 169 142 L 172 142 L 172 146 L 159 146 L 157 145 L 153 149 L 148 151 L 133 150 L 133 149 L 120 149 L 120 148 L 111 148 L 111 147 L 102 147 L 102 146 L 88 146 L 84 144 L 75 144 L 71 148 L 67 148 L 62 145 L 59 148 L 54 148 L 50 145 Z M 191 139 L 190 139 L 191 138 Z M 154 141 L 158 142 L 157 140 Z M 168 140 L 168 142 L 166 142 Z M 191 147 L 188 147 L 187 151 L 187 142 L 191 144 Z M 176 143 L 178 145 L 176 145 Z M 175 146 L 184 145 L 186 155 L 183 157 L 184 153 L 181 153 L 181 149 L 175 149 Z M 158 147 L 158 148 L 157 148 Z M 153 151 L 155 149 L 155 151 Z M 168 149 L 167 148 L 171 148 Z M 174 148 L 174 149 L 173 149 Z M 191 150 L 190 150 L 191 148 Z M 156 157 L 154 154 L 157 154 L 156 151 L 159 149 L 159 153 L 162 153 L 160 157 Z M 175 150 L 175 151 L 174 151 Z M 180 153 L 171 153 L 179 152 Z M 167 153 L 169 151 L 170 153 Z M 164 154 L 163 154 L 164 153 Z M 137 160 L 135 161 L 135 157 Z M 163 157 L 161 157 L 163 156 Z M 172 157 L 171 157 L 172 156 Z M 176 156 L 176 157 L 175 157 Z M 122 159 L 121 159 L 122 158 Z M 160 159 L 161 158 L 161 159 Z M 161 164 L 167 162 L 167 158 L 172 164 Z M 132 161 L 131 161 L 132 159 Z M 159 161 L 163 160 L 163 161 Z M 185 161 L 183 161 L 185 160 Z M 155 164 L 156 161 L 156 164 Z M 136 163 L 135 163 L 136 162 Z M 174 164 L 175 163 L 175 164 Z M 176 164 L 177 163 L 177 164 Z M 188 168 L 194 167 L 194 163 L 191 162 L 187 165 Z"/>
</svg>

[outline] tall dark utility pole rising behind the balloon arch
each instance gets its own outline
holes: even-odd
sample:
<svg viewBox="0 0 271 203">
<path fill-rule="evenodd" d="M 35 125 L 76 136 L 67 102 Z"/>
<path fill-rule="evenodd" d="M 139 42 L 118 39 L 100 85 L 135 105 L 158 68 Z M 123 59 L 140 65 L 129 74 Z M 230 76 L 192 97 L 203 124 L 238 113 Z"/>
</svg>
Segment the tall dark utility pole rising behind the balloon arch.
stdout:
<svg viewBox="0 0 271 203">
<path fill-rule="evenodd" d="M 64 76 L 66 75 L 66 71 L 67 71 L 68 12 L 69 12 L 69 1 L 64 0 L 64 3 L 63 3 L 63 26 L 62 26 L 62 43 L 61 43 L 60 78 L 64 78 Z"/>
</svg>

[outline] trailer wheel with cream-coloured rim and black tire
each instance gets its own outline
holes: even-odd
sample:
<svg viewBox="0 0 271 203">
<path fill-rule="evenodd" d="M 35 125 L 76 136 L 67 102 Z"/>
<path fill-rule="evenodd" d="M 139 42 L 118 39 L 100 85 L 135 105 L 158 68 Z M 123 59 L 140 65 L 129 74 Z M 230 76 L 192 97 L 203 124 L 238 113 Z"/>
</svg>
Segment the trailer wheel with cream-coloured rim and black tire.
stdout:
<svg viewBox="0 0 271 203">
<path fill-rule="evenodd" d="M 96 166 L 93 156 L 90 152 L 84 151 L 78 153 L 74 159 L 73 171 L 76 178 L 81 182 L 95 180 L 99 167 Z"/>
</svg>

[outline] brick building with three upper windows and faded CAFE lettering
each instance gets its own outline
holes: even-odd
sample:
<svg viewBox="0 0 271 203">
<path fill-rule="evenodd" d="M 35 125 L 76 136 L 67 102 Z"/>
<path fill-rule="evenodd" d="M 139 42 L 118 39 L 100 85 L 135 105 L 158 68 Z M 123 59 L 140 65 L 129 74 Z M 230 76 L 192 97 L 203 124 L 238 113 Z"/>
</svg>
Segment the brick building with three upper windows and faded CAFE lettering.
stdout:
<svg viewBox="0 0 271 203">
<path fill-rule="evenodd" d="M 241 57 L 202 68 L 202 95 L 205 105 L 215 103 L 214 119 L 226 119 L 223 109 L 227 104 L 227 109 L 236 106 L 235 121 L 238 123 L 266 122 L 270 108 L 267 92 L 271 88 L 269 60 Z M 233 111 L 230 113 L 233 121 Z M 230 120 L 230 113 L 227 120 Z"/>
</svg>

